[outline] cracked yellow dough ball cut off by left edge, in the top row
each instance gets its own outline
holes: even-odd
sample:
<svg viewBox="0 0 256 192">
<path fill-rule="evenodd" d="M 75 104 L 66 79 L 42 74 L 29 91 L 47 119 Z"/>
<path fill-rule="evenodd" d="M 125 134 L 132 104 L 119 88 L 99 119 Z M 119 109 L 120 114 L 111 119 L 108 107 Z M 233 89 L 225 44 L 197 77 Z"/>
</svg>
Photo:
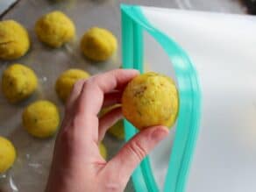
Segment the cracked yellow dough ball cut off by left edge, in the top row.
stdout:
<svg viewBox="0 0 256 192">
<path fill-rule="evenodd" d="M 29 47 L 30 39 L 22 25 L 14 20 L 0 21 L 0 59 L 18 59 Z"/>
</svg>

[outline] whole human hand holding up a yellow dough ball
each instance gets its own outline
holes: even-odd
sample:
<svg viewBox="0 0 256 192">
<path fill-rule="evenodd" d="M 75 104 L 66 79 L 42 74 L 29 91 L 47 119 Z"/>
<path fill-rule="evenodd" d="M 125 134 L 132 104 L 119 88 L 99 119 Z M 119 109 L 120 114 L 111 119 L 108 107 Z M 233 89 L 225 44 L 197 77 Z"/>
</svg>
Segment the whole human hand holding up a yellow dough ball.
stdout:
<svg viewBox="0 0 256 192">
<path fill-rule="evenodd" d="M 117 69 L 75 83 L 55 142 L 46 192 L 124 191 L 133 170 L 168 130 L 154 126 L 139 132 L 110 161 L 98 145 L 122 117 L 121 108 L 98 118 L 102 107 L 120 103 L 122 90 L 136 70 Z"/>
</svg>

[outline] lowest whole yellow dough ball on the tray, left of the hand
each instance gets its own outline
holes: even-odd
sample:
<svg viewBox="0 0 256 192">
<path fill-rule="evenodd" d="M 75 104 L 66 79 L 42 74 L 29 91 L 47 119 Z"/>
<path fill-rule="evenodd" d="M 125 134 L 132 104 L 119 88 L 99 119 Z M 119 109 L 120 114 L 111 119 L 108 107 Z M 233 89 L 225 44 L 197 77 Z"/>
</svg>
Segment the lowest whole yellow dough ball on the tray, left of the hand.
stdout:
<svg viewBox="0 0 256 192">
<path fill-rule="evenodd" d="M 37 138 L 53 136 L 60 124 L 59 110 L 55 104 L 41 100 L 28 105 L 22 115 L 25 130 Z"/>
</svg>

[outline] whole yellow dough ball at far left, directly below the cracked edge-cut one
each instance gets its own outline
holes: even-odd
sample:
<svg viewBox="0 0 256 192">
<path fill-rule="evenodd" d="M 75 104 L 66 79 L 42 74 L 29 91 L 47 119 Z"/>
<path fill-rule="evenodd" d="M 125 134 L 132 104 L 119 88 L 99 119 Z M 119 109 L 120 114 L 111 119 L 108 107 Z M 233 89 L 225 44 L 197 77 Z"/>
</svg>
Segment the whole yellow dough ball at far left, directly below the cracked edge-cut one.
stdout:
<svg viewBox="0 0 256 192">
<path fill-rule="evenodd" d="M 10 103 L 18 103 L 32 95 L 38 87 L 38 78 L 31 68 L 13 64 L 4 70 L 2 90 Z"/>
</svg>

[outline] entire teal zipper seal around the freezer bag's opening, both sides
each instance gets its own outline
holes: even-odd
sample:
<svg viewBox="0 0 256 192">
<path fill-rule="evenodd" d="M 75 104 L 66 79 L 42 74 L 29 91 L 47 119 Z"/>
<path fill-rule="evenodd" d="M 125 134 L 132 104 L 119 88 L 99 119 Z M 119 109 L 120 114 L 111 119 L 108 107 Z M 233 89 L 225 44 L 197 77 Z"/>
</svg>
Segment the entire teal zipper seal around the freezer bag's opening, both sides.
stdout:
<svg viewBox="0 0 256 192">
<path fill-rule="evenodd" d="M 165 192 L 183 192 L 188 180 L 188 170 L 196 146 L 201 119 L 201 89 L 192 62 L 178 44 L 151 25 L 139 6 L 121 5 L 122 54 L 124 68 L 137 68 L 143 72 L 143 36 L 145 30 L 156 39 L 169 56 L 174 66 L 179 91 L 179 115 L 170 155 Z M 124 122 L 125 139 L 129 140 L 136 129 Z M 136 191 L 160 191 L 150 166 L 145 158 L 132 174 Z"/>
</svg>

